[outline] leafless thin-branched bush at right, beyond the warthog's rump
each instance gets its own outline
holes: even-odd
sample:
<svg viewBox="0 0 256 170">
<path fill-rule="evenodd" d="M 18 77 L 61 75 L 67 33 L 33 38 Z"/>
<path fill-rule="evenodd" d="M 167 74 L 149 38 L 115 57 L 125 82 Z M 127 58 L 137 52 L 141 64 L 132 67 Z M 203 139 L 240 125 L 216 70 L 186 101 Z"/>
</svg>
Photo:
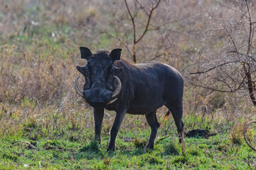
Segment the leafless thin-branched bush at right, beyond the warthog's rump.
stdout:
<svg viewBox="0 0 256 170">
<path fill-rule="evenodd" d="M 198 6 L 207 25 L 198 31 L 203 40 L 190 66 L 191 83 L 208 94 L 249 91 L 255 105 L 255 1 L 215 1 L 215 6 L 198 1 Z"/>
</svg>

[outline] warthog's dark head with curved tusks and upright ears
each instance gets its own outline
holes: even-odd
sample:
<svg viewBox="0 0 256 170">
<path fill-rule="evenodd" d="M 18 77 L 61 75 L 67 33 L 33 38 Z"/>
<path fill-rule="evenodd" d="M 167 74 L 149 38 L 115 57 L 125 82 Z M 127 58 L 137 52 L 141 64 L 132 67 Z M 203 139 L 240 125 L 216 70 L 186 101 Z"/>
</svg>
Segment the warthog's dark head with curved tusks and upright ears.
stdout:
<svg viewBox="0 0 256 170">
<path fill-rule="evenodd" d="M 76 68 L 85 77 L 83 91 L 78 88 L 78 79 L 75 79 L 75 90 L 85 98 L 87 103 L 94 108 L 102 108 L 117 100 L 122 84 L 117 75 L 122 68 L 114 66 L 115 60 L 120 60 L 122 49 L 112 52 L 100 51 L 92 54 L 87 47 L 80 47 L 82 59 L 87 60 L 85 67 Z"/>
</svg>

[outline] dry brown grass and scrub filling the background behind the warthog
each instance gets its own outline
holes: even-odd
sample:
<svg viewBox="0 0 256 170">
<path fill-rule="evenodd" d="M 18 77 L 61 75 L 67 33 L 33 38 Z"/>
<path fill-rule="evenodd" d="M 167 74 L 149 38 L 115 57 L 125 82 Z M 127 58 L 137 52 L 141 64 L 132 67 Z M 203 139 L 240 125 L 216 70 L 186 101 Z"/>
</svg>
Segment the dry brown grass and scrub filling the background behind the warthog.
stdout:
<svg viewBox="0 0 256 170">
<path fill-rule="evenodd" d="M 157 1 L 127 3 L 139 38 Z M 131 62 L 136 50 L 137 62 L 165 62 L 181 72 L 186 131 L 228 130 L 231 141 L 241 143 L 245 124 L 255 119 L 246 77 L 250 71 L 255 94 L 255 22 L 254 0 L 162 0 L 134 47 L 124 1 L 0 1 L 0 135 L 40 127 L 42 136 L 92 137 L 91 109 L 73 89 L 75 66 L 85 64 L 79 47 L 122 47 Z M 103 135 L 114 117 L 106 113 Z M 175 129 L 165 125 L 164 113 L 159 109 L 164 128 Z M 144 117 L 131 115 L 122 127 L 149 128 Z"/>
</svg>

